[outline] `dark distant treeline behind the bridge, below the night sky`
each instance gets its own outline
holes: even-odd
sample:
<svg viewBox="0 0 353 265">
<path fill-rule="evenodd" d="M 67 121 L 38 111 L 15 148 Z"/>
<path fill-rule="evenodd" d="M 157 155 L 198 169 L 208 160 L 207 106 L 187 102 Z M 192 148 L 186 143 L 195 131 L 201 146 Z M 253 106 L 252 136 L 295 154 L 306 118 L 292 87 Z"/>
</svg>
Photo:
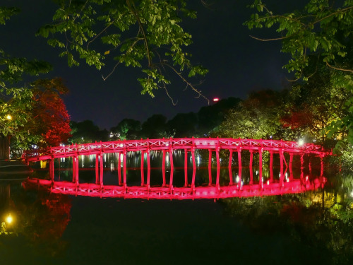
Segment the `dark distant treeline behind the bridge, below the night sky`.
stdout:
<svg viewBox="0 0 353 265">
<path fill-rule="evenodd" d="M 197 113 L 179 113 L 169 120 L 162 114 L 153 114 L 143 123 L 136 119 L 123 119 L 109 131 L 101 130 L 90 120 L 71 122 L 72 137 L 68 141 L 90 143 L 163 137 L 208 137 L 225 121 L 229 110 L 237 108 L 240 102 L 239 98 L 223 99 L 213 105 L 201 107 Z"/>
</svg>

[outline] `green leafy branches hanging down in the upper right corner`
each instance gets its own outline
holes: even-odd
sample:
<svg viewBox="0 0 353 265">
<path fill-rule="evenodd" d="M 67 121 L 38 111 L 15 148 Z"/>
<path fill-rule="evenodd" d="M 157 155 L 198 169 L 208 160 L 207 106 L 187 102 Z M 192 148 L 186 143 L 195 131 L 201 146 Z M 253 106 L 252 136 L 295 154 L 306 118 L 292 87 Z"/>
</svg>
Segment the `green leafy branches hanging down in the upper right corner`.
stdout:
<svg viewBox="0 0 353 265">
<path fill-rule="evenodd" d="M 282 40 L 282 52 L 291 55 L 285 68 L 294 71 L 297 79 L 309 81 L 317 72 L 329 78 L 332 90 L 345 88 L 348 112 L 326 121 L 329 135 L 347 131 L 353 143 L 353 1 L 309 0 L 301 11 L 275 14 L 263 1 L 251 5 L 257 13 L 246 25 L 251 28 L 276 28 L 278 37 L 262 41 Z M 330 72 L 327 76 L 327 72 Z M 340 96 L 339 92 L 336 94 Z"/>
</svg>

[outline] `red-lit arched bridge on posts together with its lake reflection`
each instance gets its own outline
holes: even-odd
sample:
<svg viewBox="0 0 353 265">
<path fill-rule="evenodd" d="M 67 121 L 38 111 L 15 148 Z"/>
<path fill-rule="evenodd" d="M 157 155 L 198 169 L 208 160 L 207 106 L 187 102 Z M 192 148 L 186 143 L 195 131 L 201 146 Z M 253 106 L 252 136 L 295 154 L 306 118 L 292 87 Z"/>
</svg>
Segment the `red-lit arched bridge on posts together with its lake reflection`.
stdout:
<svg viewBox="0 0 353 265">
<path fill-rule="evenodd" d="M 197 149 L 208 150 L 208 186 L 196 187 L 196 159 L 195 151 Z M 184 150 L 184 187 L 173 187 L 173 152 Z M 229 184 L 220 185 L 220 151 L 229 152 Z M 150 186 L 150 151 L 162 152 L 162 186 Z M 250 170 L 251 179 L 249 184 L 243 185 L 241 182 L 241 153 L 248 151 L 249 167 L 253 166 L 253 153 L 258 153 L 258 184 L 253 184 L 252 170 Z M 270 153 L 270 179 L 263 183 L 263 152 Z M 140 186 L 128 186 L 126 184 L 126 153 L 140 153 L 141 165 L 141 183 Z M 188 183 L 187 155 L 191 153 L 193 163 L 193 173 L 191 183 Z M 215 183 L 212 182 L 211 164 L 212 153 L 215 152 L 217 160 L 217 176 Z M 239 173 L 237 182 L 233 182 L 232 158 L 233 153 L 237 152 Z M 118 153 L 118 185 L 103 184 L 103 160 L 104 153 Z M 169 182 L 166 182 L 165 158 L 169 153 L 170 174 Z M 287 164 L 285 153 L 289 154 L 289 166 Z M 280 158 L 280 179 L 273 178 L 273 155 L 278 154 Z M 79 155 L 95 155 L 95 184 L 78 182 L 78 157 Z M 294 179 L 292 173 L 292 163 L 294 155 L 300 156 L 301 176 L 300 179 Z M 73 194 L 83 196 L 100 197 L 124 197 L 124 198 L 147 198 L 147 199 L 219 199 L 236 196 L 263 196 L 285 193 L 299 193 L 306 190 L 317 189 L 325 182 L 323 177 L 323 158 L 330 155 L 321 146 L 312 143 L 297 143 L 293 141 L 275 141 L 275 140 L 253 140 L 253 139 L 147 139 L 134 141 L 110 141 L 100 143 L 85 143 L 73 146 L 52 147 L 42 151 L 32 151 L 24 154 L 27 162 L 40 160 L 49 160 L 50 179 L 28 179 L 24 182 L 25 187 L 47 187 L 54 193 Z M 121 159 L 123 157 L 123 167 L 121 174 Z M 287 155 L 288 156 L 288 155 Z M 311 170 L 311 157 L 318 157 L 321 160 L 321 173 L 316 179 L 309 181 L 304 177 L 304 158 L 309 160 L 309 170 Z M 54 181 L 54 159 L 72 158 L 73 159 L 73 177 L 72 182 Z M 147 160 L 147 182 L 145 183 L 143 165 Z M 285 173 L 289 167 L 289 179 L 285 179 Z M 122 177 L 121 177 L 122 175 Z"/>
</svg>

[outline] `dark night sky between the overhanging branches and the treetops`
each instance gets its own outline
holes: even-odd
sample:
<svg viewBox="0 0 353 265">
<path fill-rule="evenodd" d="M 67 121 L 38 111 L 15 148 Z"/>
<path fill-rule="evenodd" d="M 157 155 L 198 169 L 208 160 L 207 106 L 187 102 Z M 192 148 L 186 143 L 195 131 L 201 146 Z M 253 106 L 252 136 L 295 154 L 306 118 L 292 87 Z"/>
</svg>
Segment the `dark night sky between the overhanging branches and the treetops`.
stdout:
<svg viewBox="0 0 353 265">
<path fill-rule="evenodd" d="M 187 20 L 184 30 L 193 36 L 193 45 L 188 47 L 192 61 L 203 64 L 209 73 L 198 86 L 208 98 L 246 98 L 253 90 L 272 88 L 280 90 L 288 86 L 289 75 L 282 66 L 287 56 L 280 52 L 280 42 L 260 42 L 249 35 L 268 37 L 270 30 L 248 30 L 244 25 L 251 10 L 246 5 L 251 1 L 213 1 L 205 8 L 201 1 L 190 1 L 198 11 L 198 18 Z M 274 11 L 291 11 L 301 8 L 303 1 L 268 0 Z M 116 126 L 121 119 L 132 118 L 144 122 L 152 114 L 163 114 L 168 119 L 179 112 L 198 112 L 207 105 L 202 98 L 181 82 L 174 82 L 169 93 L 178 103 L 176 106 L 164 90 L 155 93 L 155 98 L 140 95 L 137 81 L 140 69 L 121 66 L 107 81 L 102 80 L 111 70 L 97 71 L 83 61 L 79 67 L 68 67 L 66 58 L 59 58 L 59 50 L 49 47 L 47 40 L 35 37 L 41 25 L 50 23 L 55 10 L 49 0 L 2 0 L 6 6 L 18 6 L 22 10 L 6 25 L 0 26 L 0 47 L 8 54 L 28 59 L 42 59 L 54 66 L 54 71 L 43 76 L 64 79 L 70 93 L 64 97 L 71 119 L 76 122 L 91 119 L 100 128 Z"/>
</svg>

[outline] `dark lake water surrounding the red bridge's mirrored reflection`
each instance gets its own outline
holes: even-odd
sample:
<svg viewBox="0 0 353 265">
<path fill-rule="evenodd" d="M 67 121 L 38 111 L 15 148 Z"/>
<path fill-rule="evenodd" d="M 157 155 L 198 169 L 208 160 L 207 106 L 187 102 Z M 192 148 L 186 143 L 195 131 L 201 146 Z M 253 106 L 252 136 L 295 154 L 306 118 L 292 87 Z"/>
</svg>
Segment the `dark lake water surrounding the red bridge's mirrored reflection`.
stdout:
<svg viewBox="0 0 353 265">
<path fill-rule="evenodd" d="M 208 182 L 208 161 L 202 157 L 196 158 L 200 185 Z M 116 184 L 117 157 L 103 159 L 104 184 Z M 94 162 L 94 157 L 81 158 L 80 182 L 95 182 Z M 139 184 L 140 158 L 131 155 L 127 164 L 128 184 Z M 71 165 L 61 160 L 55 179 L 70 180 Z M 175 185 L 181 187 L 183 154 L 176 154 L 174 165 Z M 227 165 L 225 158 L 221 184 L 229 182 Z M 48 177 L 47 169 L 33 167 L 32 177 Z M 157 153 L 151 167 L 151 184 L 160 184 Z M 293 171 L 300 175 L 297 167 Z M 233 172 L 236 182 L 237 165 Z M 275 167 L 274 175 L 278 172 Z M 318 172 L 313 165 L 311 173 Z M 263 175 L 268 178 L 266 167 Z M 244 167 L 245 183 L 249 176 Z M 254 181 L 257 176 L 253 167 Z M 325 177 L 323 189 L 301 194 L 147 200 L 24 190 L 23 176 L 11 176 L 0 180 L 0 264 L 352 264 L 353 177 L 333 167 L 325 168 Z"/>
</svg>

